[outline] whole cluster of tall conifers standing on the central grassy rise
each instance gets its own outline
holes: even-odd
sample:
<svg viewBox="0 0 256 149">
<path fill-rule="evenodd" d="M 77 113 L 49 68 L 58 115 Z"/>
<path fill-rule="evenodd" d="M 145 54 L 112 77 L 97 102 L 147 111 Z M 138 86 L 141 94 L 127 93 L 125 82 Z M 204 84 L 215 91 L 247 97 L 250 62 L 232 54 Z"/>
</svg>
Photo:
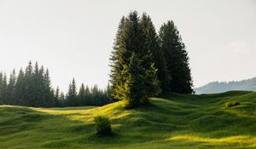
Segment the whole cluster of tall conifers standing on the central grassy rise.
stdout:
<svg viewBox="0 0 256 149">
<path fill-rule="evenodd" d="M 188 53 L 173 21 L 157 34 L 148 14 L 123 16 L 110 66 L 113 99 L 125 100 L 127 107 L 148 103 L 148 97 L 160 93 L 193 92 Z"/>
</svg>

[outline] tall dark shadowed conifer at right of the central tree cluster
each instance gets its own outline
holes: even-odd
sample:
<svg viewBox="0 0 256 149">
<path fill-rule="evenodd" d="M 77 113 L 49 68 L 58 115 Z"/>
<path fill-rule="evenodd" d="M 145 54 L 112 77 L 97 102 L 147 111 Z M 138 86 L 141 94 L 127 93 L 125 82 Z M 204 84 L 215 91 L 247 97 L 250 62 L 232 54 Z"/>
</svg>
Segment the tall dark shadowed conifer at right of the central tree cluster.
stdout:
<svg viewBox="0 0 256 149">
<path fill-rule="evenodd" d="M 172 92 L 191 94 L 192 78 L 189 68 L 189 57 L 185 45 L 173 21 L 168 21 L 160 27 L 160 49 L 166 60 L 166 67 L 170 81 L 169 89 Z"/>
</svg>

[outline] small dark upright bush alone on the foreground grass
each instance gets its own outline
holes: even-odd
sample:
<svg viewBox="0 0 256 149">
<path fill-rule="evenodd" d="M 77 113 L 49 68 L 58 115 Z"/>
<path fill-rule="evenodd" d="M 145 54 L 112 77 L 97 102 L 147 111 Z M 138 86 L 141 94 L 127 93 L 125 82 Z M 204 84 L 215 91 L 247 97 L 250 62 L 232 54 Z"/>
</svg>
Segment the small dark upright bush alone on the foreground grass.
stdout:
<svg viewBox="0 0 256 149">
<path fill-rule="evenodd" d="M 96 135 L 112 135 L 111 124 L 108 117 L 95 117 Z"/>
</svg>

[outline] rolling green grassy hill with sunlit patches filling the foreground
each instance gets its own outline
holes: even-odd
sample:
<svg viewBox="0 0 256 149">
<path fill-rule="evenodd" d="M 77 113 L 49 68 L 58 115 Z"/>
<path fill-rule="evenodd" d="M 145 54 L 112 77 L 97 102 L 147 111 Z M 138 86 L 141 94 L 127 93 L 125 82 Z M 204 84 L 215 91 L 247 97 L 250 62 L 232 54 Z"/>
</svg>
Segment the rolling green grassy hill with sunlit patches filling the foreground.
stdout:
<svg viewBox="0 0 256 149">
<path fill-rule="evenodd" d="M 126 111 L 102 107 L 0 106 L 0 148 L 256 148 L 256 93 L 177 95 Z M 226 102 L 241 105 L 225 107 Z M 116 135 L 94 135 L 93 119 L 108 116 Z"/>
</svg>

